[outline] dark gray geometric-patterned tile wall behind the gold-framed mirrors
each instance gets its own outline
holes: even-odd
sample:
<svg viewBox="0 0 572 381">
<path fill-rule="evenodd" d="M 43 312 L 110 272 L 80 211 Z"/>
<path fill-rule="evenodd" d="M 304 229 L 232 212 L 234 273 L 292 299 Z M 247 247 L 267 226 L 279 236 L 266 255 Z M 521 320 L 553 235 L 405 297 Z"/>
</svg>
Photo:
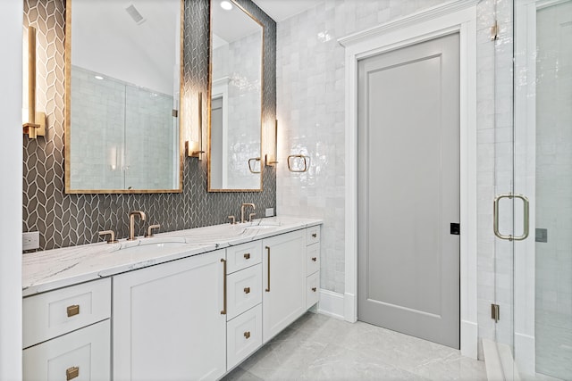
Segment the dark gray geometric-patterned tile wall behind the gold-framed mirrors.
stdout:
<svg viewBox="0 0 572 381">
<path fill-rule="evenodd" d="M 263 123 L 273 125 L 276 115 L 276 23 L 250 0 L 242 5 L 265 26 Z M 203 146 L 206 147 L 206 94 L 208 87 L 208 0 L 185 0 L 184 69 L 181 113 L 198 120 L 196 102 L 203 94 Z M 255 203 L 257 215 L 276 207 L 276 172 L 263 172 L 262 192 L 208 193 L 206 160 L 186 158 L 181 194 L 65 195 L 64 154 L 64 30 L 65 0 L 25 0 L 24 27 L 37 29 L 37 110 L 46 112 L 46 137 L 23 137 L 22 231 L 39 231 L 39 250 L 90 244 L 101 240 L 98 232 L 113 229 L 119 238 L 129 234 L 129 212 L 147 213 L 136 228 L 143 234 L 148 224 L 160 231 L 198 228 L 227 222 L 240 214 L 240 203 Z M 194 104 L 194 106 L 193 106 Z M 183 123 L 188 123 L 186 119 Z M 275 210 L 275 209 L 274 209 Z"/>
</svg>

